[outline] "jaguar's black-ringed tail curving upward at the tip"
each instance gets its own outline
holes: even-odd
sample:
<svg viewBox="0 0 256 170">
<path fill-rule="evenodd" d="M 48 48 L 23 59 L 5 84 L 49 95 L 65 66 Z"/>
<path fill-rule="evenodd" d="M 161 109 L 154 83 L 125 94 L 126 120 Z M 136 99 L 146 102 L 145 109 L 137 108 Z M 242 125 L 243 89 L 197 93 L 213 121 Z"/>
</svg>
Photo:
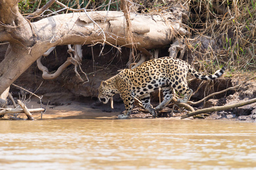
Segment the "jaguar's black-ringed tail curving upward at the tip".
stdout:
<svg viewBox="0 0 256 170">
<path fill-rule="evenodd" d="M 201 79 L 201 80 L 217 79 L 224 73 L 225 70 L 226 70 L 226 66 L 222 67 L 222 69 L 216 71 L 212 75 L 202 75 L 202 74 L 198 73 L 195 69 L 193 69 L 192 66 L 189 65 L 189 68 L 188 68 L 189 73 L 191 73 L 193 76 L 195 76 L 196 78 Z"/>
</svg>

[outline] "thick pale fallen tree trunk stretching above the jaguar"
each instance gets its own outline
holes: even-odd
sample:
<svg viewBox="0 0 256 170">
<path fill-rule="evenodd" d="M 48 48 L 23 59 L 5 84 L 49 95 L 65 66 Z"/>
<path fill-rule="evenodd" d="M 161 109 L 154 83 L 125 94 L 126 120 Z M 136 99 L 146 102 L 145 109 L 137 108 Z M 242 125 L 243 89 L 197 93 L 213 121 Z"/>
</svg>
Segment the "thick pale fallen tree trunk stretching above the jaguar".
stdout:
<svg viewBox="0 0 256 170">
<path fill-rule="evenodd" d="M 133 42 L 127 37 L 123 12 L 90 11 L 55 15 L 30 23 L 18 9 L 18 0 L 0 0 L 0 41 L 9 41 L 0 64 L 0 94 L 49 48 L 68 44 L 132 45 L 146 49 L 170 45 L 175 35 L 188 35 L 181 27 L 180 12 L 162 15 L 130 14 Z M 184 15 L 185 16 L 185 15 Z M 178 18 L 178 17 L 177 17 Z"/>
</svg>

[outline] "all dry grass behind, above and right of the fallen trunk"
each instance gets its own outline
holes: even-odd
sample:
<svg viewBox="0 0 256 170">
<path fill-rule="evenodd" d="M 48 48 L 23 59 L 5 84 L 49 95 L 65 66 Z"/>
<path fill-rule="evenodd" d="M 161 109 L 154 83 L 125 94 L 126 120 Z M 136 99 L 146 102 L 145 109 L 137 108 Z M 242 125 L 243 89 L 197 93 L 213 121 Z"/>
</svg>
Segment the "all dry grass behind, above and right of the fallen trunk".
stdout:
<svg viewBox="0 0 256 170">
<path fill-rule="evenodd" d="M 40 2 L 40 3 L 39 3 Z M 191 37 L 177 37 L 187 45 L 187 58 L 196 63 L 196 69 L 214 72 L 222 65 L 231 71 L 256 69 L 256 0 L 84 0 L 60 2 L 72 8 L 87 10 L 121 10 L 121 2 L 126 2 L 129 12 L 145 15 L 163 14 L 174 8 L 187 11 L 188 20 L 184 27 Z M 20 10 L 34 12 L 46 1 L 22 0 Z M 42 17 L 61 11 L 61 6 L 53 5 Z M 31 11 L 32 9 L 32 11 Z M 123 9 L 123 8 L 122 8 Z M 27 11 L 26 11 L 27 10 Z M 72 12 L 72 11 L 69 11 Z M 131 39 L 132 40 L 132 39 Z"/>
</svg>

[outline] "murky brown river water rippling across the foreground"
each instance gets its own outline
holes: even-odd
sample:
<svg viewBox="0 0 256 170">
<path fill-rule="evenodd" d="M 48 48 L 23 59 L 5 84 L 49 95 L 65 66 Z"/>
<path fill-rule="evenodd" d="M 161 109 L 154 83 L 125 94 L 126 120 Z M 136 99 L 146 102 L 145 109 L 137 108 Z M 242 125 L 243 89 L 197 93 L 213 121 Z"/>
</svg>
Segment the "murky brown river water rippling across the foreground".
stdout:
<svg viewBox="0 0 256 170">
<path fill-rule="evenodd" d="M 256 124 L 1 121 L 0 153 L 0 169 L 256 169 Z"/>
</svg>

